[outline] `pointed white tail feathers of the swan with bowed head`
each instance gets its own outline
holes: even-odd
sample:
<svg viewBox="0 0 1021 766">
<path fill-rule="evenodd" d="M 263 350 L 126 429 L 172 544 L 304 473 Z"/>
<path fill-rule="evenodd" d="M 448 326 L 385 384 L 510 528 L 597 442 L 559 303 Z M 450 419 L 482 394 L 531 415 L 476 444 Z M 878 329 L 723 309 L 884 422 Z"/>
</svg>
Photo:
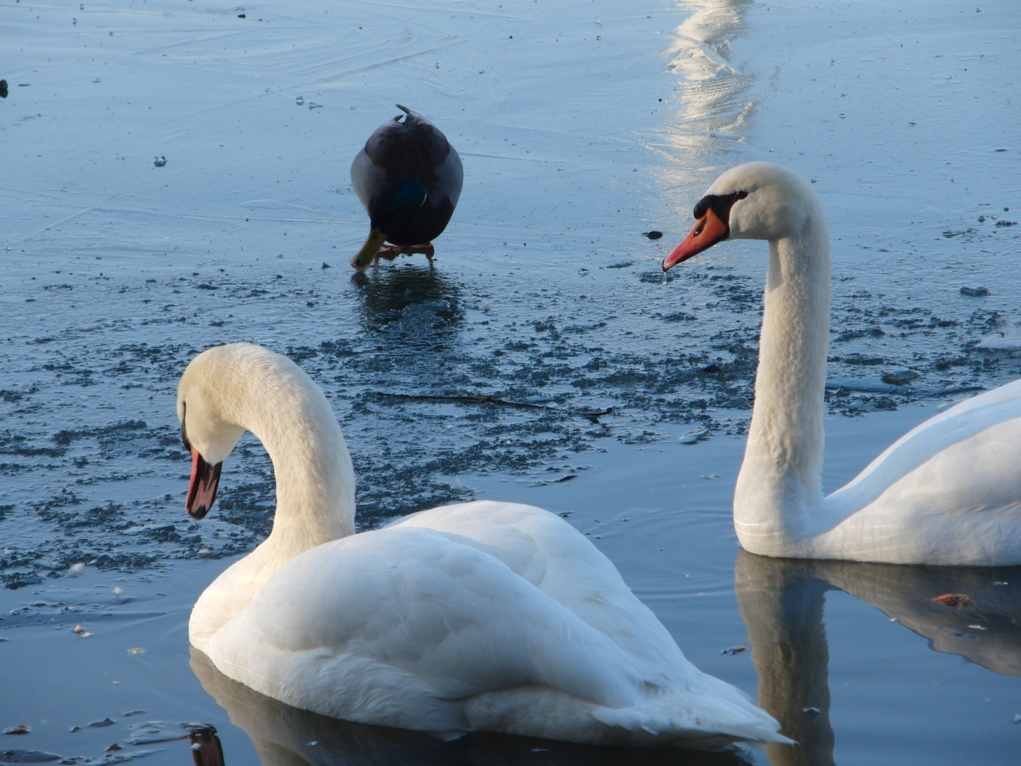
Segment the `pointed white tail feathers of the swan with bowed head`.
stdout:
<svg viewBox="0 0 1021 766">
<path fill-rule="evenodd" d="M 757 708 L 740 690 L 716 678 L 702 688 L 650 687 L 641 705 L 632 708 L 595 708 L 592 715 L 609 726 L 635 734 L 635 744 L 684 744 L 718 750 L 734 741 L 783 743 L 780 724 Z"/>
</svg>

